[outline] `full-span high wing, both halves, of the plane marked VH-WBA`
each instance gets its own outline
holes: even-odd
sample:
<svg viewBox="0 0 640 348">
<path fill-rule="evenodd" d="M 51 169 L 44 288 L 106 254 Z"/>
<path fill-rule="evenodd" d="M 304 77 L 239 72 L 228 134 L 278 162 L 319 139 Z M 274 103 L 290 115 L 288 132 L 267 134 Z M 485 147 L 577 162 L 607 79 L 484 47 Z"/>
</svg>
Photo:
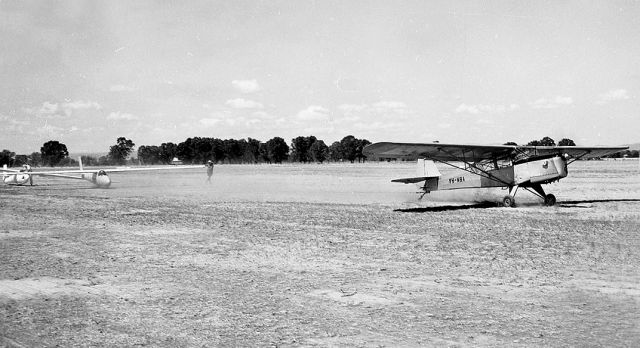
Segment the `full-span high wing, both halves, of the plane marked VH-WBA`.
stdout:
<svg viewBox="0 0 640 348">
<path fill-rule="evenodd" d="M 517 145 L 464 145 L 440 143 L 389 143 L 371 144 L 364 148 L 366 156 L 377 158 L 416 159 L 425 157 L 434 161 L 467 163 L 484 160 L 530 160 L 552 155 L 569 155 L 574 159 L 594 158 L 627 150 L 628 147 L 586 146 L 517 146 Z"/>
</svg>

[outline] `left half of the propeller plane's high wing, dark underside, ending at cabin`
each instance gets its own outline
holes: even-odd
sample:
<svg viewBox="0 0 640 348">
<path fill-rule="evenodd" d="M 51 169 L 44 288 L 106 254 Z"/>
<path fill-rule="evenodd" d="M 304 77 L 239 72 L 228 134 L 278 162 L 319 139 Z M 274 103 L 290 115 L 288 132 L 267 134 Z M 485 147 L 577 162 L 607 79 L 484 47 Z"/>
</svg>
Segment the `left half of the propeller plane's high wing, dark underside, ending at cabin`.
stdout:
<svg viewBox="0 0 640 348">
<path fill-rule="evenodd" d="M 511 145 L 462 145 L 440 143 L 375 143 L 364 148 L 366 156 L 378 158 L 407 158 L 425 157 L 434 161 L 477 162 L 488 159 L 511 158 L 517 146 Z"/>
</svg>

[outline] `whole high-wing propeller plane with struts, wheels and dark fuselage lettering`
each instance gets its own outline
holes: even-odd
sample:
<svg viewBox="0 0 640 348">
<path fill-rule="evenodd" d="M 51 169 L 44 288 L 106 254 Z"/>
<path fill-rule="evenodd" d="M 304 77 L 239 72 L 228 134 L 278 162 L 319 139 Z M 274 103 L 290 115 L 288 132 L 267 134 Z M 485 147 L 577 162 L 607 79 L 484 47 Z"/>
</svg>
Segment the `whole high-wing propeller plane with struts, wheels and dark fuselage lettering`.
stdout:
<svg viewBox="0 0 640 348">
<path fill-rule="evenodd" d="M 515 206 L 518 188 L 541 197 L 553 206 L 556 197 L 542 185 L 568 175 L 568 165 L 582 158 L 597 158 L 628 147 L 465 145 L 440 143 L 380 142 L 363 149 L 367 157 L 417 159 L 417 175 L 392 182 L 417 184 L 421 196 L 431 191 L 503 187 L 505 207 Z M 455 168 L 442 175 L 435 162 Z"/>
</svg>

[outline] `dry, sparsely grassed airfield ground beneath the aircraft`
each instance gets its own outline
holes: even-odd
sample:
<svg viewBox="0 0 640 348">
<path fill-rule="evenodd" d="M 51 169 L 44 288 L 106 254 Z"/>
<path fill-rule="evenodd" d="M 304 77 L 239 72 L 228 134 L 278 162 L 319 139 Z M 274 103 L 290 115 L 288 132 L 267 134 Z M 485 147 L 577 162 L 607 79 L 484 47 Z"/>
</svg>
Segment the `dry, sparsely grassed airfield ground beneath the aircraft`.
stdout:
<svg viewBox="0 0 640 348">
<path fill-rule="evenodd" d="M 631 347 L 640 164 L 417 201 L 409 164 L 0 186 L 0 347 Z"/>
</svg>

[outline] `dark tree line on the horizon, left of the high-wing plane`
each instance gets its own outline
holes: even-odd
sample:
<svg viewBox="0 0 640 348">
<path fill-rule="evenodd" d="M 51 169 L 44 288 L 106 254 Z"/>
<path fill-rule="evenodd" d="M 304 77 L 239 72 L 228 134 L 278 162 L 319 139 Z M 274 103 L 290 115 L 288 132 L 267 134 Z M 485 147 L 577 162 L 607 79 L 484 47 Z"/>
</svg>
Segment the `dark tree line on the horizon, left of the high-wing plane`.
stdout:
<svg viewBox="0 0 640 348">
<path fill-rule="evenodd" d="M 119 137 L 116 144 L 109 147 L 107 155 L 98 158 L 82 156 L 81 159 L 87 166 L 123 165 L 128 161 L 141 164 L 170 164 L 176 158 L 185 164 L 201 164 L 209 160 L 215 163 L 353 163 L 366 160 L 362 150 L 370 143 L 353 135 L 335 141 L 330 146 L 315 136 L 299 136 L 293 138 L 290 144 L 280 137 L 274 137 L 267 142 L 252 138 L 223 140 L 192 137 L 178 144 L 167 142 L 160 145 L 142 145 L 135 153 L 137 158 L 130 158 L 134 154 L 135 143 L 125 137 Z M 50 140 L 42 145 L 40 152 L 33 152 L 31 155 L 16 155 L 15 152 L 3 150 L 0 153 L 0 165 L 4 164 L 53 167 L 77 166 L 78 162 L 69 158 L 65 144 Z"/>
</svg>

